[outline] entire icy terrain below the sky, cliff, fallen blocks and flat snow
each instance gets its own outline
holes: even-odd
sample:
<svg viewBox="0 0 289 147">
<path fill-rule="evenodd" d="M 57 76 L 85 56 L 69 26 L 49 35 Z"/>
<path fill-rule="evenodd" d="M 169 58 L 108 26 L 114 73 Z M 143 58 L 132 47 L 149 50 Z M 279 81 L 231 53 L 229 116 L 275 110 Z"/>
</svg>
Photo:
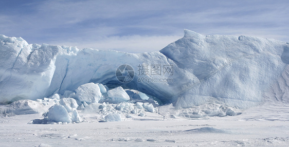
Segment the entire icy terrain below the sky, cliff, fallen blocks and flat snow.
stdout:
<svg viewBox="0 0 289 147">
<path fill-rule="evenodd" d="M 289 43 L 185 30 L 133 54 L 0 35 L 0 51 L 0 146 L 289 145 Z"/>
</svg>

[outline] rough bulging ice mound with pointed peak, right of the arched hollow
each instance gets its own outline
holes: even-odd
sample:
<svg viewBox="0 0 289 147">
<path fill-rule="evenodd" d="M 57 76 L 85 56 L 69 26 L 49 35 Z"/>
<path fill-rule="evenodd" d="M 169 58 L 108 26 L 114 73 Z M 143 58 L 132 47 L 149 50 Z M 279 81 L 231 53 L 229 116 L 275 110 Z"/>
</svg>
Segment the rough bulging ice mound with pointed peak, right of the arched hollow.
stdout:
<svg viewBox="0 0 289 147">
<path fill-rule="evenodd" d="M 250 36 L 204 36 L 185 30 L 184 38 L 160 52 L 198 79 L 183 85 L 184 90 L 176 96 L 178 106 L 217 99 L 230 106 L 248 107 L 265 101 L 269 89 L 289 89 L 289 45 L 285 42 Z M 275 81 L 280 87 L 272 86 Z M 282 95 L 285 99 L 288 96 Z"/>
</svg>

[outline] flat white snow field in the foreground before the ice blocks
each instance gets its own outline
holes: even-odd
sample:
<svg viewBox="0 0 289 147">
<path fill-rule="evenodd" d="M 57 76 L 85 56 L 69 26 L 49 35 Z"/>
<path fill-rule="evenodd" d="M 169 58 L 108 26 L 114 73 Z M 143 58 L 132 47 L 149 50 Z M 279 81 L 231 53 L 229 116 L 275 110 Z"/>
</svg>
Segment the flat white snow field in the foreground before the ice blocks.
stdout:
<svg viewBox="0 0 289 147">
<path fill-rule="evenodd" d="M 0 146 L 288 146 L 289 105 L 252 107 L 201 119 L 28 124 L 40 114 L 2 116 Z M 151 120 L 150 120 L 151 119 Z"/>
</svg>

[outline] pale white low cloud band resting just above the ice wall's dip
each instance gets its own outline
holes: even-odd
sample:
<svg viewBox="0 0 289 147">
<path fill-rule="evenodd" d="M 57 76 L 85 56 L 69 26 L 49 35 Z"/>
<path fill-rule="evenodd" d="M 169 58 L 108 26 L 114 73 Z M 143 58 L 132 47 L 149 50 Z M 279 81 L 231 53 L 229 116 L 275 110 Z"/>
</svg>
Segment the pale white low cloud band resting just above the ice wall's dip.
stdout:
<svg viewBox="0 0 289 147">
<path fill-rule="evenodd" d="M 159 51 L 182 36 L 111 36 L 99 40 L 75 42 L 50 42 L 50 44 L 94 48 L 99 50 L 118 50 L 131 53 Z"/>
</svg>

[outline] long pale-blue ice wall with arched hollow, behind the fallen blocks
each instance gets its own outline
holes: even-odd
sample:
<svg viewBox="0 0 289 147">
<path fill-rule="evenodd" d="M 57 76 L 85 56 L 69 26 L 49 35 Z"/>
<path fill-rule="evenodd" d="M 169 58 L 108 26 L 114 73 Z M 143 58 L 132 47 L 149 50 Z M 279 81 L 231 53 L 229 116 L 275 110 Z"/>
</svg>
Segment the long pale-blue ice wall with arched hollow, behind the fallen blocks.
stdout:
<svg viewBox="0 0 289 147">
<path fill-rule="evenodd" d="M 1 103 L 63 95 L 89 82 L 136 89 L 178 108 L 212 101 L 239 108 L 288 101 L 289 45 L 273 39 L 204 36 L 185 30 L 184 38 L 159 52 L 133 54 L 28 44 L 0 35 L 0 51 Z M 134 68 L 130 83 L 116 79 L 121 64 Z M 174 65 L 173 76 L 146 76 L 173 82 L 138 82 L 139 64 Z"/>
</svg>

